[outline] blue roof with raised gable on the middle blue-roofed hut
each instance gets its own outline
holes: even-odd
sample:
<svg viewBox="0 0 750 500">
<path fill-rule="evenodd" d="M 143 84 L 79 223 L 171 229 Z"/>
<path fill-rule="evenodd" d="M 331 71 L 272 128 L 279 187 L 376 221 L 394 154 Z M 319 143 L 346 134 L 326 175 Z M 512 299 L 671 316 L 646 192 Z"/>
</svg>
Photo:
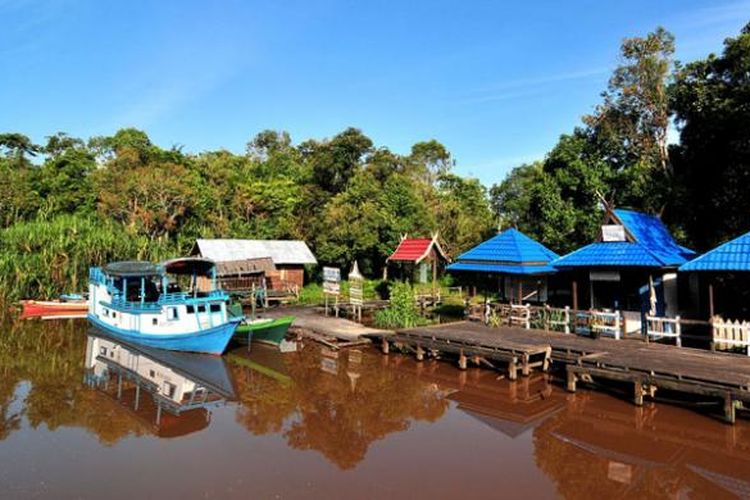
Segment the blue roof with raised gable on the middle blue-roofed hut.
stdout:
<svg viewBox="0 0 750 500">
<path fill-rule="evenodd" d="M 555 267 L 671 267 L 695 255 L 677 244 L 653 215 L 616 209 L 615 215 L 635 241 L 597 242 L 553 262 Z"/>
</svg>

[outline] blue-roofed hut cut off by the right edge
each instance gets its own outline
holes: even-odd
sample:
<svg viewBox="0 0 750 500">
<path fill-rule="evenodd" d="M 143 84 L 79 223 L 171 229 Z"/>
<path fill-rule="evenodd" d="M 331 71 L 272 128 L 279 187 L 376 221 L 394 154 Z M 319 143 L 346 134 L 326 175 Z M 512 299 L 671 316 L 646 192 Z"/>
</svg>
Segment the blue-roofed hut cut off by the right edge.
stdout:
<svg viewBox="0 0 750 500">
<path fill-rule="evenodd" d="M 750 314 L 750 233 L 727 241 L 683 264 L 694 280 L 700 316 L 748 318 Z"/>
</svg>

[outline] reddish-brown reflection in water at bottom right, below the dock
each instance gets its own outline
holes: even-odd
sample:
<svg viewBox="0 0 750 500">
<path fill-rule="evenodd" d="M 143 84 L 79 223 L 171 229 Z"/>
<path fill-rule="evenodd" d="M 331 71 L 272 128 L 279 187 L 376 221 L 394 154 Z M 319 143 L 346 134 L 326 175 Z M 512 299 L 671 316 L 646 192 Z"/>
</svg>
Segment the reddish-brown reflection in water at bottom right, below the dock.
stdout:
<svg viewBox="0 0 750 500">
<path fill-rule="evenodd" d="M 564 497 L 750 497 L 750 432 L 658 405 L 578 394 L 534 431 Z"/>
</svg>

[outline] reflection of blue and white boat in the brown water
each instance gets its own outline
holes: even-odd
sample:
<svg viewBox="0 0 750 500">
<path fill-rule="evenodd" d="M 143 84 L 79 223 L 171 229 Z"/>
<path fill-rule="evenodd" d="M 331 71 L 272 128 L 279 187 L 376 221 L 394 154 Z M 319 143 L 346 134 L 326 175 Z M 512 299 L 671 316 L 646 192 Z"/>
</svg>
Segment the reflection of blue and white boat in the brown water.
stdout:
<svg viewBox="0 0 750 500">
<path fill-rule="evenodd" d="M 217 356 L 128 344 L 92 328 L 85 359 L 85 383 L 159 437 L 204 429 L 213 408 L 235 399 L 231 373 Z"/>
</svg>

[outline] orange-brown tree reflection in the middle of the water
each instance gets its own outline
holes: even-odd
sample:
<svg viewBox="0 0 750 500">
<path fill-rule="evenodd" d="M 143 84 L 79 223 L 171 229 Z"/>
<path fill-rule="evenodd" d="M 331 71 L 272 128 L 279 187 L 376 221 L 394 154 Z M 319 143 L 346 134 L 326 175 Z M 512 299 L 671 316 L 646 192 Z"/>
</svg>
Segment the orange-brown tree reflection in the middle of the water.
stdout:
<svg viewBox="0 0 750 500">
<path fill-rule="evenodd" d="M 339 354 L 339 359 L 327 360 L 329 371 L 321 369 L 317 346 L 278 354 L 289 383 L 242 373 L 249 368 L 235 365 L 244 406 L 238 421 L 255 434 L 283 430 L 293 448 L 318 450 L 349 469 L 374 441 L 408 429 L 412 421 L 435 421 L 448 407 L 424 382 L 385 369 L 377 354 L 365 353 L 358 363 L 350 362 L 346 351 Z"/>
</svg>

